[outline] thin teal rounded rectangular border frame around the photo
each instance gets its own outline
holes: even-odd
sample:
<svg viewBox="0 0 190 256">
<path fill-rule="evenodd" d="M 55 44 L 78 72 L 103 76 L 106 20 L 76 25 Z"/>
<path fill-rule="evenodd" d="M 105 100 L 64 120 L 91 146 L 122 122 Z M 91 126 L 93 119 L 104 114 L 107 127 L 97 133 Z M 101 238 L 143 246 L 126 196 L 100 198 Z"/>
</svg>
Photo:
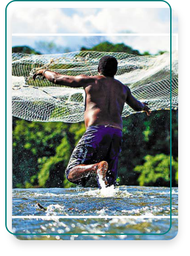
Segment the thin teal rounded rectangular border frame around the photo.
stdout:
<svg viewBox="0 0 190 256">
<path fill-rule="evenodd" d="M 51 0 L 26 0 L 26 1 L 30 1 L 30 2 L 42 2 L 42 1 L 50 1 Z M 25 1 L 25 2 L 26 2 Z M 59 2 L 65 2 L 67 0 L 56 0 Z M 75 2 L 75 1 L 79 1 L 79 0 L 69 0 L 71 2 Z M 84 0 L 83 2 L 87 2 L 88 0 Z M 102 0 L 94 0 L 97 2 L 102 2 Z M 113 0 L 105 0 L 106 1 L 113 1 Z M 172 228 L 172 7 L 170 5 L 170 3 L 168 3 L 165 0 L 119 0 L 122 2 L 162 2 L 162 3 L 166 3 L 166 5 L 168 5 L 168 7 L 170 8 L 170 228 L 167 232 L 162 233 L 162 234 L 59 234 L 59 236 L 163 236 L 165 234 L 167 234 L 168 232 L 170 232 L 171 228 Z M 5 229 L 7 230 L 7 232 L 9 232 L 10 234 L 12 234 L 13 236 L 28 236 L 28 235 L 32 235 L 32 236 L 57 236 L 58 234 L 16 234 L 16 233 L 12 233 L 7 226 L 7 9 L 9 7 L 9 5 L 11 5 L 11 3 L 15 3 L 15 2 L 24 2 L 24 0 L 12 0 L 9 3 L 7 3 L 7 5 L 5 6 Z M 81 2 L 81 1 L 80 1 Z M 89 1 L 88 1 L 89 2 Z M 117 2 L 117 1 L 113 1 L 113 2 Z M 126 217 L 127 218 L 127 217 Z"/>
</svg>

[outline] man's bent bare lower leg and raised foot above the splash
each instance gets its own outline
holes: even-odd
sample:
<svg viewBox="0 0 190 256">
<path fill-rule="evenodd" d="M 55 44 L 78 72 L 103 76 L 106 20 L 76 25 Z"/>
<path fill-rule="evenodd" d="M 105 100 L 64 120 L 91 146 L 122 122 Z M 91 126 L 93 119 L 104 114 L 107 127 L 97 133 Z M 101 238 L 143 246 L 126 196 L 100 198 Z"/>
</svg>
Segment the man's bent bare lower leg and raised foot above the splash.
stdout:
<svg viewBox="0 0 190 256">
<path fill-rule="evenodd" d="M 82 179 L 83 177 L 87 177 L 89 175 L 98 175 L 100 178 L 104 180 L 107 185 L 106 181 L 106 172 L 108 171 L 108 163 L 106 161 L 102 161 L 98 164 L 80 164 L 75 166 L 69 172 L 68 179 L 69 181 L 77 181 Z"/>
</svg>

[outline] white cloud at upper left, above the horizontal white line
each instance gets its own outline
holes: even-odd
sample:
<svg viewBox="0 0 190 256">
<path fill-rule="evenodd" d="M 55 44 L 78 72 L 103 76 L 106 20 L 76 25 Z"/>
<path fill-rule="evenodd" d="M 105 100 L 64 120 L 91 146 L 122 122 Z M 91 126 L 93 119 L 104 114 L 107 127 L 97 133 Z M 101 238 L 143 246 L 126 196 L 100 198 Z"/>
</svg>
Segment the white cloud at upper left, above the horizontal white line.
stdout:
<svg viewBox="0 0 190 256">
<path fill-rule="evenodd" d="M 59 8 L 20 8 L 13 13 L 13 33 L 88 33 L 86 18 Z"/>
</svg>

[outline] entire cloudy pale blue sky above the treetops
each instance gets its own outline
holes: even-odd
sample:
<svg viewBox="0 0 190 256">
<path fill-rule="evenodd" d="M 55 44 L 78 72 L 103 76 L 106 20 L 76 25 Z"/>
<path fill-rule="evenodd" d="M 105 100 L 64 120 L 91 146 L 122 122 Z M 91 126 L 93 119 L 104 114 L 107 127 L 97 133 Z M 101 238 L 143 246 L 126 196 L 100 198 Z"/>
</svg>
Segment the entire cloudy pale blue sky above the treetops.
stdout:
<svg viewBox="0 0 190 256">
<path fill-rule="evenodd" d="M 102 41 L 124 43 L 141 53 L 170 50 L 170 9 L 166 8 L 20 8 L 13 13 L 13 34 L 154 34 L 154 36 L 13 36 L 13 46 L 36 48 L 47 41 L 71 51 Z M 172 33 L 178 34 L 178 15 L 172 10 Z M 176 49 L 172 37 L 172 50 Z M 45 53 L 45 52 L 44 52 Z"/>
</svg>

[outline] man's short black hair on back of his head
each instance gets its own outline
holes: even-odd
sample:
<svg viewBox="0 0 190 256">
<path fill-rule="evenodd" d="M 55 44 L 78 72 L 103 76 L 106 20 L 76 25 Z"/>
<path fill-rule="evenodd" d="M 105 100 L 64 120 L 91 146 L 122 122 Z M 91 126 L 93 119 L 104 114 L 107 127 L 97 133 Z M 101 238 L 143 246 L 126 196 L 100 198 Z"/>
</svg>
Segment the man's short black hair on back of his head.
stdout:
<svg viewBox="0 0 190 256">
<path fill-rule="evenodd" d="M 110 55 L 102 57 L 98 64 L 98 72 L 106 77 L 114 77 L 117 73 L 117 59 Z"/>
</svg>

